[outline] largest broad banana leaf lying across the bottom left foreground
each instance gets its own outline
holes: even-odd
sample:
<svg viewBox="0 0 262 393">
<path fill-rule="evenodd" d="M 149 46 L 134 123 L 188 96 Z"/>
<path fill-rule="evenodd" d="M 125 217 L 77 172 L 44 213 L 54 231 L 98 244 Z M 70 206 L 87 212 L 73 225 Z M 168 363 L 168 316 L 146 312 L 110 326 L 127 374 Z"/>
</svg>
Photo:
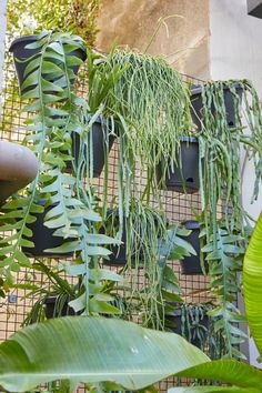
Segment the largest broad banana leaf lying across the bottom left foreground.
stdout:
<svg viewBox="0 0 262 393">
<path fill-rule="evenodd" d="M 209 357 L 174 333 L 103 318 L 28 326 L 0 345 L 0 385 L 24 392 L 59 379 L 138 390 Z"/>
</svg>

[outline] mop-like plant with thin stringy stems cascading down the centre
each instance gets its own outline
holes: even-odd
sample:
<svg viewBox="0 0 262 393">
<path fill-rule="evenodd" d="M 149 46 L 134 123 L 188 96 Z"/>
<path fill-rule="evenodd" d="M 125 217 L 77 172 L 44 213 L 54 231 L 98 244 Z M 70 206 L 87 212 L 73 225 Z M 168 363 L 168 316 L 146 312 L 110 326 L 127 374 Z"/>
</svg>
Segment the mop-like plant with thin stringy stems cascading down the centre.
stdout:
<svg viewBox="0 0 262 393">
<path fill-rule="evenodd" d="M 130 303 L 133 306 L 132 301 L 139 299 L 144 324 L 162 329 L 167 299 L 161 286 L 164 268 L 159 262 L 161 255 L 158 242 L 159 239 L 165 239 L 167 218 L 161 205 L 155 173 L 158 164 L 163 161 L 162 178 L 165 177 L 169 158 L 177 157 L 180 137 L 191 131 L 189 91 L 179 73 L 164 60 L 128 49 L 114 50 L 99 68 L 100 75 L 104 70 L 108 75 L 114 73 L 114 70 L 122 70 L 103 101 L 103 114 L 110 117 L 111 128 L 119 143 L 119 192 L 117 205 L 112 206 L 118 214 L 118 224 L 113 233 L 121 239 L 125 226 L 125 273 L 131 280 L 143 268 L 142 289 L 135 289 L 133 283 L 135 290 L 130 295 Z M 90 69 L 93 70 L 89 64 Z M 103 80 L 99 77 L 98 69 L 95 72 L 95 79 Z M 91 87 L 99 85 L 98 82 L 92 83 L 92 72 L 90 75 Z M 89 98 L 93 101 L 92 90 Z M 135 173 L 142 174 L 143 171 L 147 172 L 147 179 L 143 182 L 141 175 L 138 184 Z M 157 202 L 154 208 L 151 208 L 152 195 Z M 107 204 L 105 199 L 103 204 Z M 109 223 L 107 226 L 112 225 Z"/>
</svg>

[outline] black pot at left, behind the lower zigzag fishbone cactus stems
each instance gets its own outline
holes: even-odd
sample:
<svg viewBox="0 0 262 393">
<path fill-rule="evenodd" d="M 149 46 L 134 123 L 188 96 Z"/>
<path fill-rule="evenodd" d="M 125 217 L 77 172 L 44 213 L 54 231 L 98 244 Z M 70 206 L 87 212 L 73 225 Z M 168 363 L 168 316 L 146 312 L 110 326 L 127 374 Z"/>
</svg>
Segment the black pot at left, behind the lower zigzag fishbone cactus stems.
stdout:
<svg viewBox="0 0 262 393">
<path fill-rule="evenodd" d="M 44 205 L 44 201 L 39 201 L 39 204 Z M 22 246 L 22 252 L 29 256 L 47 256 L 47 258 L 69 258 L 72 256 L 73 253 L 51 253 L 44 252 L 46 249 L 53 249 L 64 244 L 64 240 L 61 236 L 54 236 L 53 233 L 57 229 L 47 228 L 43 225 L 44 215 L 53 206 L 49 206 L 44 209 L 42 213 L 34 213 L 37 220 L 27 226 L 32 231 L 32 238 L 28 240 L 32 241 L 34 248 Z M 68 241 L 71 241 L 69 239 Z"/>
</svg>

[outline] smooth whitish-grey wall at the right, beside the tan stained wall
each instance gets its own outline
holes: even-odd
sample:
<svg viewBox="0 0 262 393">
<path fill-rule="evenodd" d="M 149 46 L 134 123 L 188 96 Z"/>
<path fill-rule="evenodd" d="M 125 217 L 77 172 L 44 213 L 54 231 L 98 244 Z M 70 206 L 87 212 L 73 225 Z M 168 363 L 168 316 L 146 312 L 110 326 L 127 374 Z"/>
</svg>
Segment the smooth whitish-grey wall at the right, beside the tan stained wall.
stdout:
<svg viewBox="0 0 262 393">
<path fill-rule="evenodd" d="M 250 79 L 262 98 L 262 19 L 248 16 L 246 0 L 210 0 L 210 71 L 212 79 Z M 242 153 L 242 162 L 244 154 Z M 243 168 L 242 201 L 256 219 L 262 210 L 262 190 L 251 204 L 254 170 L 250 162 Z M 258 351 L 250 340 L 250 362 Z"/>
</svg>

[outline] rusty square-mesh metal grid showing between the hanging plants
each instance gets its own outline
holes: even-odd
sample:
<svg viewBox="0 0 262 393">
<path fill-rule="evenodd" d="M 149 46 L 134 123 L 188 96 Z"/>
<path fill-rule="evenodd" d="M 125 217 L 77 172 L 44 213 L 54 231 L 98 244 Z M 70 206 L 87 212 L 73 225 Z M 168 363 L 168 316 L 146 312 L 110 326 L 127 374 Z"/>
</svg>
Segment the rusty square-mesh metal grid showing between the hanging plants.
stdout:
<svg viewBox="0 0 262 393">
<path fill-rule="evenodd" d="M 7 39 L 7 49 L 10 44 L 9 37 Z M 13 142 L 21 142 L 26 135 L 26 129 L 23 125 L 24 114 L 20 113 L 22 103 L 19 97 L 18 82 L 16 71 L 13 67 L 13 60 L 11 54 L 6 53 L 4 77 L 3 77 L 3 90 L 2 90 L 2 113 L 0 124 L 0 140 L 9 140 Z M 193 79 L 191 77 L 182 75 L 184 83 L 189 81 L 193 84 L 201 84 L 201 80 Z M 79 93 L 85 93 L 88 88 L 87 79 L 82 78 L 79 85 Z M 114 144 L 110 152 L 110 165 L 109 165 L 109 184 L 108 184 L 108 198 L 112 200 L 117 192 L 117 157 L 118 147 Z M 137 173 L 137 180 L 141 184 L 141 177 L 144 173 Z M 103 173 L 95 180 L 99 192 L 102 192 L 103 188 Z M 162 202 L 170 223 L 182 222 L 185 220 L 192 220 L 192 206 L 198 212 L 200 211 L 200 195 L 182 194 L 172 191 L 161 192 Z M 51 263 L 50 260 L 46 261 Z M 185 298 L 190 302 L 202 302 L 208 300 L 208 278 L 204 275 L 183 275 L 180 271 L 179 261 L 172 261 L 171 266 L 178 273 L 181 288 L 185 293 Z M 114 269 L 114 268 L 111 268 Z M 138 274 L 138 285 L 142 278 L 142 269 Z M 41 274 L 32 273 L 32 271 L 22 270 L 17 273 L 17 283 L 23 283 L 30 281 L 31 283 L 49 285 L 46 279 Z M 0 341 L 6 340 L 12 333 L 21 328 L 27 313 L 30 311 L 36 299 L 27 296 L 27 291 L 13 290 L 9 293 L 8 298 L 1 300 L 0 303 Z M 163 381 L 159 384 L 159 391 L 165 392 L 167 389 L 174 384 L 174 380 Z M 81 389 L 82 391 L 82 389 Z"/>
</svg>

